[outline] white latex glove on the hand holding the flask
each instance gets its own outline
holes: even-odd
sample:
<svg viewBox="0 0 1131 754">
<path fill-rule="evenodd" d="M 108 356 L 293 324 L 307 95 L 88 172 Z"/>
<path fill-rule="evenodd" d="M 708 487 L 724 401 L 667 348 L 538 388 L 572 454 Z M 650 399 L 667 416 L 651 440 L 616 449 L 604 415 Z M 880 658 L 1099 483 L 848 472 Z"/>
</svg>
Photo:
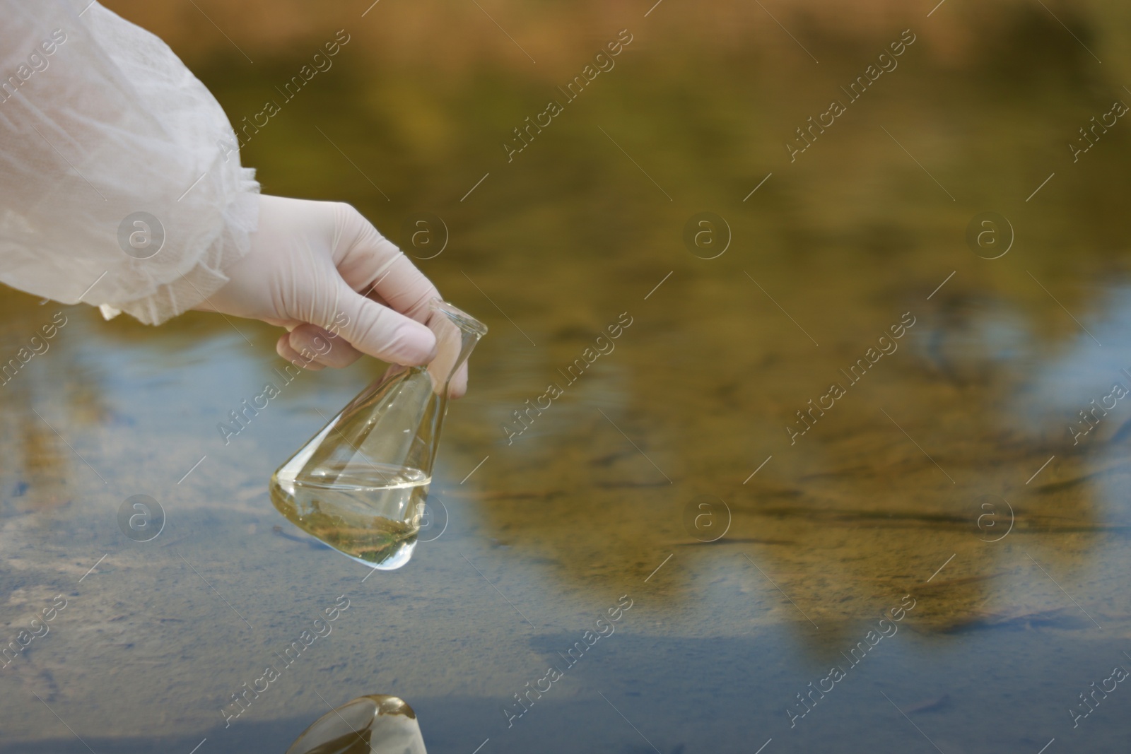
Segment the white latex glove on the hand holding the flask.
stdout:
<svg viewBox="0 0 1131 754">
<path fill-rule="evenodd" d="M 285 327 L 276 350 L 305 369 L 362 354 L 415 366 L 435 355 L 421 322 L 440 293 L 349 205 L 261 196 L 251 250 L 224 274 L 230 281 L 197 309 Z M 466 387 L 465 365 L 450 393 Z"/>
</svg>

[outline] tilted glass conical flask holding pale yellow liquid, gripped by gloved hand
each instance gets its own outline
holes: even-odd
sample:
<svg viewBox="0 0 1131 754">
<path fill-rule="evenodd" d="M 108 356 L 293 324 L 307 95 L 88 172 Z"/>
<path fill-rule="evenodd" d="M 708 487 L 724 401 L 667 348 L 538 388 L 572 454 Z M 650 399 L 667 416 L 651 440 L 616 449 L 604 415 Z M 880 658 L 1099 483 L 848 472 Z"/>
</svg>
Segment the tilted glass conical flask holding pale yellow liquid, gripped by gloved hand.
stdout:
<svg viewBox="0 0 1131 754">
<path fill-rule="evenodd" d="M 412 557 L 448 387 L 487 328 L 433 300 L 428 366 L 392 366 L 349 401 L 271 477 L 271 502 L 330 547 L 390 571 Z"/>
</svg>

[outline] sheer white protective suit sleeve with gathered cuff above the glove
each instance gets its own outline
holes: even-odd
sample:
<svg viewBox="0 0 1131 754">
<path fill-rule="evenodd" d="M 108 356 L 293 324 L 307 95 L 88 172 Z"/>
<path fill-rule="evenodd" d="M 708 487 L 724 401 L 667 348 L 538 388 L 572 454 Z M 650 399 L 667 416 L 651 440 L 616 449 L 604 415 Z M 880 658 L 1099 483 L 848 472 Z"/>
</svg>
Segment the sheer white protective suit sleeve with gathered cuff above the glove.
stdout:
<svg viewBox="0 0 1131 754">
<path fill-rule="evenodd" d="M 0 12 L 0 280 L 148 324 L 224 286 L 259 184 L 215 97 L 97 2 Z"/>
</svg>

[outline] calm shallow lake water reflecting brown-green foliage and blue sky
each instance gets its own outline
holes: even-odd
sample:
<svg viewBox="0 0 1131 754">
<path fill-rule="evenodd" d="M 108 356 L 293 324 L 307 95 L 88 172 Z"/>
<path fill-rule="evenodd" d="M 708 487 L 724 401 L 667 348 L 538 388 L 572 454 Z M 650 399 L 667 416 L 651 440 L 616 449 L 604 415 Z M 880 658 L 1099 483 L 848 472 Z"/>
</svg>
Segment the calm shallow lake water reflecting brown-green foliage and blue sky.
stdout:
<svg viewBox="0 0 1131 754">
<path fill-rule="evenodd" d="M 0 752 L 282 753 L 363 694 L 433 754 L 1125 751 L 1125 10 L 365 2 L 265 31 L 201 3 L 252 64 L 170 5 L 113 7 L 233 121 L 277 101 L 243 149 L 264 191 L 354 203 L 491 332 L 431 541 L 370 573 L 267 482 L 383 365 L 303 374 L 225 442 L 276 329 L 5 291 L 0 359 L 66 323 L 0 387 L 5 641 L 54 610 L 0 669 Z"/>
</svg>

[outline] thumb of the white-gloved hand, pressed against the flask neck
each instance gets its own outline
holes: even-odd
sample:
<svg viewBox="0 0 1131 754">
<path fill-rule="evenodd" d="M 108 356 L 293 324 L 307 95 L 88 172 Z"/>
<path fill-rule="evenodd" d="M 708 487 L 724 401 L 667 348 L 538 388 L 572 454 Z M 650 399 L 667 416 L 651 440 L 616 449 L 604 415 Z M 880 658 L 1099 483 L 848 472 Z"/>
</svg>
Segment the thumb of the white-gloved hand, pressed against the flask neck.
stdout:
<svg viewBox="0 0 1131 754">
<path fill-rule="evenodd" d="M 362 296 L 344 280 L 338 294 L 338 311 L 335 329 L 363 354 L 403 366 L 432 361 L 435 336 L 430 329 Z"/>
</svg>

